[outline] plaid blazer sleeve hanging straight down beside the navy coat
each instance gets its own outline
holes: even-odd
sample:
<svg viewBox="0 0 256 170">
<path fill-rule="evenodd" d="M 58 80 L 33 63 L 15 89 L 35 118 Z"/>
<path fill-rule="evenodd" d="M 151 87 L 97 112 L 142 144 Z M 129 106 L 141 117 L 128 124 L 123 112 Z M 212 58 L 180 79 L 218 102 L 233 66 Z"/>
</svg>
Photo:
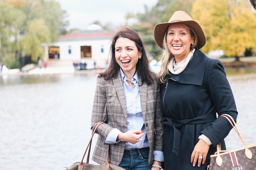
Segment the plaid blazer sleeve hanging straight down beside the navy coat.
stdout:
<svg viewBox="0 0 256 170">
<path fill-rule="evenodd" d="M 163 151 L 162 141 L 163 141 L 163 132 L 164 124 L 162 119 L 164 117 L 161 111 L 161 93 L 160 93 L 160 83 L 157 83 L 157 95 L 156 95 L 156 112 L 155 112 L 155 139 L 154 139 L 154 150 Z"/>
</svg>

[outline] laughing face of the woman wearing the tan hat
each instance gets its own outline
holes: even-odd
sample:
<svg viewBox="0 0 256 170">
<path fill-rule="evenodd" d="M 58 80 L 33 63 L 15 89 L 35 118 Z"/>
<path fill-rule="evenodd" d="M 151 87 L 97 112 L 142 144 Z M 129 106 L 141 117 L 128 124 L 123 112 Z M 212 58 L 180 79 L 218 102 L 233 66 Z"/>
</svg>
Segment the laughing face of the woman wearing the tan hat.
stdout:
<svg viewBox="0 0 256 170">
<path fill-rule="evenodd" d="M 194 38 L 191 37 L 189 29 L 183 24 L 172 24 L 168 27 L 166 41 L 169 51 L 178 63 L 188 56 Z"/>
</svg>

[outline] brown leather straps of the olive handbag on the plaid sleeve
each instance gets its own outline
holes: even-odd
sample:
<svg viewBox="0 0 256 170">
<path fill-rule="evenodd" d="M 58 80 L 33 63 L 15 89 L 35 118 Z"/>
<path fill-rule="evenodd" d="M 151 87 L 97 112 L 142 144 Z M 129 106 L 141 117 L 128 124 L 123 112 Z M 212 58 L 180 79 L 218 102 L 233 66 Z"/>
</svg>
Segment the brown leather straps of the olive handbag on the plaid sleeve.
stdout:
<svg viewBox="0 0 256 170">
<path fill-rule="evenodd" d="M 86 154 L 86 152 L 87 152 L 88 147 L 89 147 L 89 150 L 88 150 L 88 155 L 87 155 L 86 163 L 87 163 L 87 164 L 89 163 L 90 150 L 91 150 L 91 146 L 92 146 L 92 137 L 94 136 L 94 133 L 96 132 L 97 128 L 98 128 L 100 125 L 102 125 L 102 124 L 104 124 L 104 122 L 97 122 L 97 123 L 95 123 L 95 125 L 93 126 L 93 128 L 92 128 L 92 136 L 91 136 L 90 141 L 89 141 L 89 143 L 88 143 L 88 145 L 87 145 L 87 147 L 86 147 L 86 150 L 85 150 L 85 152 L 84 152 L 83 158 L 82 158 L 80 164 L 78 165 L 78 170 L 82 170 L 82 169 L 84 168 L 84 162 L 83 162 L 83 160 L 84 160 L 84 156 L 85 156 L 85 154 Z M 108 148 L 109 148 L 109 145 L 108 145 Z M 108 153 L 107 153 L 107 160 L 106 160 L 106 164 L 105 164 L 105 170 L 108 169 L 109 164 L 110 164 L 110 156 L 109 156 L 109 151 L 108 151 Z"/>
</svg>

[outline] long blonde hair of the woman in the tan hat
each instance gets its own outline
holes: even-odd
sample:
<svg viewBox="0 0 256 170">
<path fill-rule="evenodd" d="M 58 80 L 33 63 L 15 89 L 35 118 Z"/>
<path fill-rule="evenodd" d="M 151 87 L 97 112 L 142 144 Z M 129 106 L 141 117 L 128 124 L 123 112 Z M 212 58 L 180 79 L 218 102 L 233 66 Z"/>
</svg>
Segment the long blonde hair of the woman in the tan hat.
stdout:
<svg viewBox="0 0 256 170">
<path fill-rule="evenodd" d="M 190 36 L 195 39 L 194 44 L 191 45 L 191 47 L 190 47 L 190 50 L 192 50 L 192 49 L 196 48 L 196 46 L 197 46 L 198 36 L 196 35 L 196 32 L 190 26 L 188 26 L 186 24 L 183 24 L 183 25 L 186 28 L 188 28 L 188 30 L 190 32 Z M 166 36 L 167 36 L 167 32 L 168 32 L 168 27 L 164 34 L 163 49 L 162 49 L 162 65 L 161 65 L 160 72 L 158 74 L 158 81 L 161 84 L 166 81 L 166 79 L 164 77 L 166 74 L 168 74 L 168 65 L 169 65 L 172 57 L 174 57 L 174 55 L 172 53 L 170 53 L 168 46 L 167 46 Z"/>
</svg>

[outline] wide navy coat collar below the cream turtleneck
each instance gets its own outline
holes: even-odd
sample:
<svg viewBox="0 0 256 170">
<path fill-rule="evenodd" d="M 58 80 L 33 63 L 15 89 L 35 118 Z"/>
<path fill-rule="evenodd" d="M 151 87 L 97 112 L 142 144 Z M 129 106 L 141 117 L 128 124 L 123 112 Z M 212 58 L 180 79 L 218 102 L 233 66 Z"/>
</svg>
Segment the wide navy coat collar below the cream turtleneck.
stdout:
<svg viewBox="0 0 256 170">
<path fill-rule="evenodd" d="M 173 79 L 179 83 L 202 85 L 206 61 L 208 59 L 209 58 L 206 57 L 204 53 L 202 53 L 199 49 L 196 49 L 191 61 L 188 63 L 184 71 L 178 75 L 174 75 L 169 71 L 167 78 Z"/>
</svg>

